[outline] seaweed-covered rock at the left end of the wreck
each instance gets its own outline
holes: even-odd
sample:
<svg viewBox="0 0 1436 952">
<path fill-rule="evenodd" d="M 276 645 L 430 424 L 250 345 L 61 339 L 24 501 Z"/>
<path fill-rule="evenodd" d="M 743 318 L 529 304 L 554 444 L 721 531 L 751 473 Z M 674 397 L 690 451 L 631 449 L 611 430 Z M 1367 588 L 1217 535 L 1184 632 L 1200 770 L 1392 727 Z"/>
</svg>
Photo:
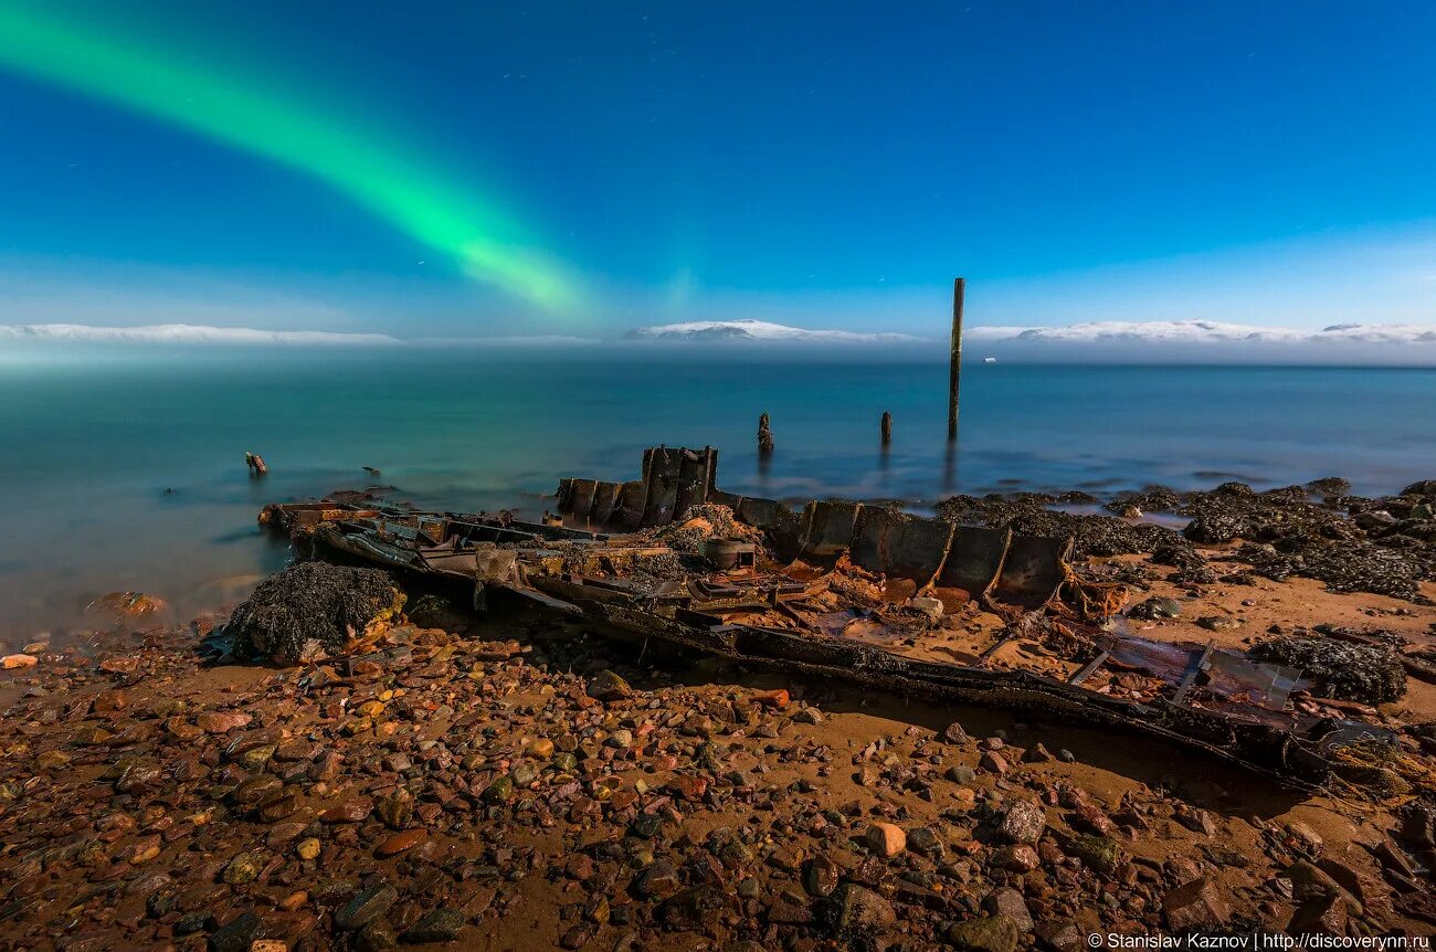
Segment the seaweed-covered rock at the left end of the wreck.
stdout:
<svg viewBox="0 0 1436 952">
<path fill-rule="evenodd" d="M 402 609 L 404 592 L 385 571 L 300 561 L 261 582 L 227 632 L 276 663 L 297 665 L 345 652 Z"/>
</svg>

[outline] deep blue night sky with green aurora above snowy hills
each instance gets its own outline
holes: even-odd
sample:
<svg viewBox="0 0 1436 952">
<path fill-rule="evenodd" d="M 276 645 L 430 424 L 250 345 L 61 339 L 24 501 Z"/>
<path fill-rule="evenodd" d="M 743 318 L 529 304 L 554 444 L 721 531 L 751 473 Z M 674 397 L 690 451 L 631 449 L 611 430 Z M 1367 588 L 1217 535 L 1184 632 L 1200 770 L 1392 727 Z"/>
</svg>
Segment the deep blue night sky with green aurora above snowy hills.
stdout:
<svg viewBox="0 0 1436 952">
<path fill-rule="evenodd" d="M 979 326 L 1433 326 L 1432 36 L 1417 1 L 0 0 L 0 325 L 936 337 L 961 274 Z"/>
</svg>

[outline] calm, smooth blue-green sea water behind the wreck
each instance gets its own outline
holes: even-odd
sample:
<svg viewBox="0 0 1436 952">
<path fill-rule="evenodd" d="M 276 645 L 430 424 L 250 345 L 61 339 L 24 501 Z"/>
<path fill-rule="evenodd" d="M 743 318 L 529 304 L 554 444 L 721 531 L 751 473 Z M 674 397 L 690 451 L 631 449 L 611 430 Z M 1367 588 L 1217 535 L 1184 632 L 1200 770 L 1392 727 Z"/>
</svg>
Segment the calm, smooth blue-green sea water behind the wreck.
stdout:
<svg viewBox="0 0 1436 952">
<path fill-rule="evenodd" d="M 0 362 L 0 642 L 57 638 L 111 590 L 182 615 L 233 602 L 284 546 L 273 500 L 373 482 L 537 514 L 563 475 L 633 478 L 646 445 L 714 445 L 728 490 L 929 507 L 955 493 L 1344 475 L 1436 477 L 1436 372 L 972 365 L 958 452 L 941 363 L 599 362 L 422 350 L 139 350 Z M 890 449 L 877 421 L 892 411 Z M 760 465 L 757 416 L 777 454 Z M 244 452 L 261 454 L 250 480 Z"/>
</svg>

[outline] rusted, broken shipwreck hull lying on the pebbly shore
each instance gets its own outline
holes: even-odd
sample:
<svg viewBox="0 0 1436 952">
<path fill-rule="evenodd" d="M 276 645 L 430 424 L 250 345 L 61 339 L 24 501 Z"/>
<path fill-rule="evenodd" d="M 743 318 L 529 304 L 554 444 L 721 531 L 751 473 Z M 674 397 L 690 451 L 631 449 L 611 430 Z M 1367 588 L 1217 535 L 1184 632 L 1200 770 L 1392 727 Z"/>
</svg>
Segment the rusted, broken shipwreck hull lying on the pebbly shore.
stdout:
<svg viewBox="0 0 1436 952">
<path fill-rule="evenodd" d="M 1083 582 L 1071 538 L 862 503 L 796 510 L 719 490 L 717 462 L 711 448 L 648 449 L 639 480 L 563 480 L 559 518 L 538 523 L 332 500 L 261 521 L 319 557 L 462 580 L 478 609 L 517 596 L 735 661 L 1124 728 L 1298 785 L 1327 778 L 1328 724 L 1287 704 L 1300 672 L 1132 638 L 1111 623 L 1126 590 Z M 714 534 L 695 543 L 692 524 Z"/>
</svg>

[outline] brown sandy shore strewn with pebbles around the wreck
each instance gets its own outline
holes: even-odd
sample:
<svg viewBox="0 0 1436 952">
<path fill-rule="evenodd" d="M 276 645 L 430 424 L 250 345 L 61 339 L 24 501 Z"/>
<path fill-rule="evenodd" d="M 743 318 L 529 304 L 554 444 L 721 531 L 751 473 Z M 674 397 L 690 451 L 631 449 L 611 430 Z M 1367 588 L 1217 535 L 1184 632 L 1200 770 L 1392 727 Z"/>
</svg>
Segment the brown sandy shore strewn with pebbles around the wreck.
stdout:
<svg viewBox="0 0 1436 952">
<path fill-rule="evenodd" d="M 1211 580 L 1140 553 L 1084 571 L 1179 602 L 1129 622 L 1156 640 L 1436 643 L 1430 582 L 1277 582 L 1238 546 L 1205 551 L 1228 559 Z M 1094 932 L 1436 929 L 1436 686 L 1417 678 L 1358 705 L 1400 731 L 1390 783 L 1298 793 L 582 620 L 449 609 L 392 632 L 383 663 L 290 669 L 205 663 L 220 620 L 119 622 L 4 672 L 0 948 L 1067 952 Z M 974 605 L 946 630 L 994 625 Z"/>
</svg>

